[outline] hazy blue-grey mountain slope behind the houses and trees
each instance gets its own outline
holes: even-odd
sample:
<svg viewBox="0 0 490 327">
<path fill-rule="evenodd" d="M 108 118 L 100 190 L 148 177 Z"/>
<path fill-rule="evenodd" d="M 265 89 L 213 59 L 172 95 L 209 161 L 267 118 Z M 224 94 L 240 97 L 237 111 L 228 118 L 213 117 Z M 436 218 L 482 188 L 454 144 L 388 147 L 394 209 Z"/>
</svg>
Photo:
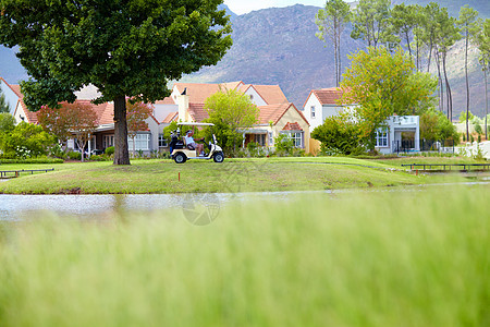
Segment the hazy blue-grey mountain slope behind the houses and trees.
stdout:
<svg viewBox="0 0 490 327">
<path fill-rule="evenodd" d="M 402 1 L 394 0 L 393 3 Z M 406 4 L 426 5 L 429 0 L 406 0 Z M 449 5 L 450 12 L 457 15 L 460 7 L 468 3 L 488 17 L 488 0 L 441 0 L 440 5 Z M 456 3 L 456 4 L 455 4 Z M 182 82 L 220 83 L 243 81 L 252 84 L 278 84 L 286 97 L 297 108 L 302 108 L 309 92 L 314 88 L 333 87 L 334 63 L 333 46 L 320 41 L 315 33 L 315 14 L 319 8 L 296 4 L 287 8 L 270 8 L 236 15 L 228 7 L 231 16 L 234 40 L 233 47 L 216 66 L 203 68 L 199 72 L 184 76 Z M 350 37 L 346 28 L 342 38 L 342 66 L 348 65 L 347 55 L 364 49 L 362 40 Z M 460 41 L 449 55 L 449 75 L 453 90 L 455 114 L 466 108 L 464 77 L 464 44 Z M 483 75 L 477 62 L 477 52 L 470 50 L 469 60 L 471 86 L 471 112 L 482 116 L 485 111 Z M 436 73 L 434 70 L 431 70 Z M 10 83 L 25 78 L 14 51 L 0 47 L 0 76 Z"/>
</svg>

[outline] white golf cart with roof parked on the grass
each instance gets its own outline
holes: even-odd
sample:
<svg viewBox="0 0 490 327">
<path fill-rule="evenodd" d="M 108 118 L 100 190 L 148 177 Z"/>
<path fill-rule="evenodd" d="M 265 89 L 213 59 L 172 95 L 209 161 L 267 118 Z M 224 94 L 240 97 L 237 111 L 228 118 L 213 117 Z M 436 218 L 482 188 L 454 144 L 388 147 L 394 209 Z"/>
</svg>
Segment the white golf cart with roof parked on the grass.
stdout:
<svg viewBox="0 0 490 327">
<path fill-rule="evenodd" d="M 209 160 L 213 159 L 215 162 L 223 162 L 224 154 L 221 147 L 217 144 L 215 133 L 212 134 L 212 142 L 210 141 L 208 144 L 208 153 L 204 156 L 199 156 L 197 149 L 192 148 L 187 144 L 185 144 L 185 137 L 181 138 L 181 129 L 180 126 L 213 126 L 212 123 L 191 123 L 191 122 L 180 122 L 177 123 L 176 131 L 173 131 L 171 134 L 170 142 L 170 154 L 175 160 L 176 164 L 184 164 L 188 159 L 201 159 Z"/>
</svg>

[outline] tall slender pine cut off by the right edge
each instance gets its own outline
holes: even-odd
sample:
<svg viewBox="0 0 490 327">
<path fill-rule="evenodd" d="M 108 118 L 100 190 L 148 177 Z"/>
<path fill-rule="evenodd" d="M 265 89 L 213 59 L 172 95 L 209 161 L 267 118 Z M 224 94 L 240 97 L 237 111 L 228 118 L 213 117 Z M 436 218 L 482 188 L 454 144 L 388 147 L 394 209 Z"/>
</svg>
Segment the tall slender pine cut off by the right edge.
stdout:
<svg viewBox="0 0 490 327">
<path fill-rule="evenodd" d="M 478 62 L 481 64 L 485 81 L 485 138 L 488 140 L 488 73 L 490 71 L 490 20 L 478 20 L 478 33 L 475 43 L 480 50 Z"/>
</svg>

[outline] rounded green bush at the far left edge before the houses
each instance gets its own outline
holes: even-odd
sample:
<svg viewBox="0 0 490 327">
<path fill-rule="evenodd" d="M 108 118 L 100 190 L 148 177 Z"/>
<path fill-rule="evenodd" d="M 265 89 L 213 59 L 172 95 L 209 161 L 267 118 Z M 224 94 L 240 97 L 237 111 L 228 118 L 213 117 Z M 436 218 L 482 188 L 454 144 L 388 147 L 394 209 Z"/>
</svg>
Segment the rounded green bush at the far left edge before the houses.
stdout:
<svg viewBox="0 0 490 327">
<path fill-rule="evenodd" d="M 3 134 L 1 150 L 7 158 L 35 158 L 48 154 L 56 145 L 56 137 L 41 126 L 21 122 L 10 134 Z"/>
</svg>

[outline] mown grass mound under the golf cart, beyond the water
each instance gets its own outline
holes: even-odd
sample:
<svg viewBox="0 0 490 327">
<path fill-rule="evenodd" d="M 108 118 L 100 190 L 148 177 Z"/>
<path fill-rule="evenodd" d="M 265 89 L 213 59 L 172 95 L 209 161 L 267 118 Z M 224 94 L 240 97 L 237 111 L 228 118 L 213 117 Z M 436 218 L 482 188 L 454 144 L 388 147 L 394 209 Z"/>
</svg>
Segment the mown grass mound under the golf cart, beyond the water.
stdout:
<svg viewBox="0 0 490 327">
<path fill-rule="evenodd" d="M 2 165 L 0 169 L 51 167 Z M 440 178 L 409 174 L 391 160 L 335 157 L 226 159 L 223 164 L 192 160 L 184 165 L 171 160 L 133 160 L 131 166 L 123 167 L 111 162 L 86 162 L 57 165 L 54 168 L 54 172 L 22 175 L 1 182 L 0 192 L 233 193 L 378 187 L 440 181 Z"/>
</svg>

